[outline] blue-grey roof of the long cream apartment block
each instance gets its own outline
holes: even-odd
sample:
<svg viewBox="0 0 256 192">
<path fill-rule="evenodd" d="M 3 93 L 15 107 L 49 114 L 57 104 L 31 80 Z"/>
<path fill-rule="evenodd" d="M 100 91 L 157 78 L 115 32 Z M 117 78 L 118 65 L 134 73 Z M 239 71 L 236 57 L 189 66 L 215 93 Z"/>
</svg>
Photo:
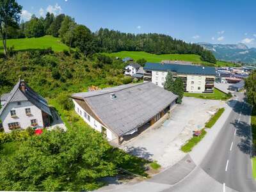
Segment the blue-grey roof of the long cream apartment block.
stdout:
<svg viewBox="0 0 256 192">
<path fill-rule="evenodd" d="M 144 70 L 173 71 L 178 74 L 215 75 L 214 67 L 201 65 L 179 65 L 175 63 L 146 63 Z"/>
</svg>

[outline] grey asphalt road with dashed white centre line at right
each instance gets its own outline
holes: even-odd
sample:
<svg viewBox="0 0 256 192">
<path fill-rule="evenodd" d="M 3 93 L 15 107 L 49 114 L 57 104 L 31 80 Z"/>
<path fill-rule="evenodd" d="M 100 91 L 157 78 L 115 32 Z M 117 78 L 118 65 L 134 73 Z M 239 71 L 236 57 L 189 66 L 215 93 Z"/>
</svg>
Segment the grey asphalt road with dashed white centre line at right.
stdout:
<svg viewBox="0 0 256 192">
<path fill-rule="evenodd" d="M 256 191 L 250 160 L 251 109 L 243 102 L 243 94 L 236 94 L 236 105 L 200 167 L 223 184 L 223 188 L 227 186 L 241 192 Z"/>
</svg>

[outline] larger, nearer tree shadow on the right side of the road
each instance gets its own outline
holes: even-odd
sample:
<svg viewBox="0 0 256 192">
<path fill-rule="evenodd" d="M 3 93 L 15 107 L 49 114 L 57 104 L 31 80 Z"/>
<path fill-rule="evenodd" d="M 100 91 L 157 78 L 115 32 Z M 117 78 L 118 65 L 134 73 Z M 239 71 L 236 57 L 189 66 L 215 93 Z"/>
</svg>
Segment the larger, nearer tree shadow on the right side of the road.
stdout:
<svg viewBox="0 0 256 192">
<path fill-rule="evenodd" d="M 237 147 L 243 152 L 244 154 L 251 155 L 252 150 L 252 135 L 251 135 L 251 126 L 246 122 L 236 122 L 231 123 L 236 127 L 236 135 L 240 138 Z"/>
</svg>

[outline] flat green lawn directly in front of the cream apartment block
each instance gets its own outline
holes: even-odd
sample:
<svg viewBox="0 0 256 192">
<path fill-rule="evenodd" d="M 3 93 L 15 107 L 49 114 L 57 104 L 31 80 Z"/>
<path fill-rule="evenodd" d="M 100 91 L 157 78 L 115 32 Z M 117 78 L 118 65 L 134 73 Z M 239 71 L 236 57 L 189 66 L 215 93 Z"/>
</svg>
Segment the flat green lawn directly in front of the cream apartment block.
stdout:
<svg viewBox="0 0 256 192">
<path fill-rule="evenodd" d="M 223 93 L 216 88 L 214 88 L 214 93 L 184 93 L 184 96 L 213 100 L 227 100 L 230 98 L 226 93 Z"/>
</svg>

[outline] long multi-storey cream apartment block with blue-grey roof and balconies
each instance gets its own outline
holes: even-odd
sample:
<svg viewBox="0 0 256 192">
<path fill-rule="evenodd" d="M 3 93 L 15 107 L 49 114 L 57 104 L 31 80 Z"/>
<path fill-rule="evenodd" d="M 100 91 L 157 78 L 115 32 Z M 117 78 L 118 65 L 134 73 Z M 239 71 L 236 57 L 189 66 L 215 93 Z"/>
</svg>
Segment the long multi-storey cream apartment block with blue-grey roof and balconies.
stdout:
<svg viewBox="0 0 256 192">
<path fill-rule="evenodd" d="M 180 77 L 184 84 L 184 92 L 214 92 L 215 68 L 200 65 L 184 65 L 176 63 L 146 63 L 144 82 L 152 82 L 163 87 L 168 72 L 173 78 Z"/>
</svg>

